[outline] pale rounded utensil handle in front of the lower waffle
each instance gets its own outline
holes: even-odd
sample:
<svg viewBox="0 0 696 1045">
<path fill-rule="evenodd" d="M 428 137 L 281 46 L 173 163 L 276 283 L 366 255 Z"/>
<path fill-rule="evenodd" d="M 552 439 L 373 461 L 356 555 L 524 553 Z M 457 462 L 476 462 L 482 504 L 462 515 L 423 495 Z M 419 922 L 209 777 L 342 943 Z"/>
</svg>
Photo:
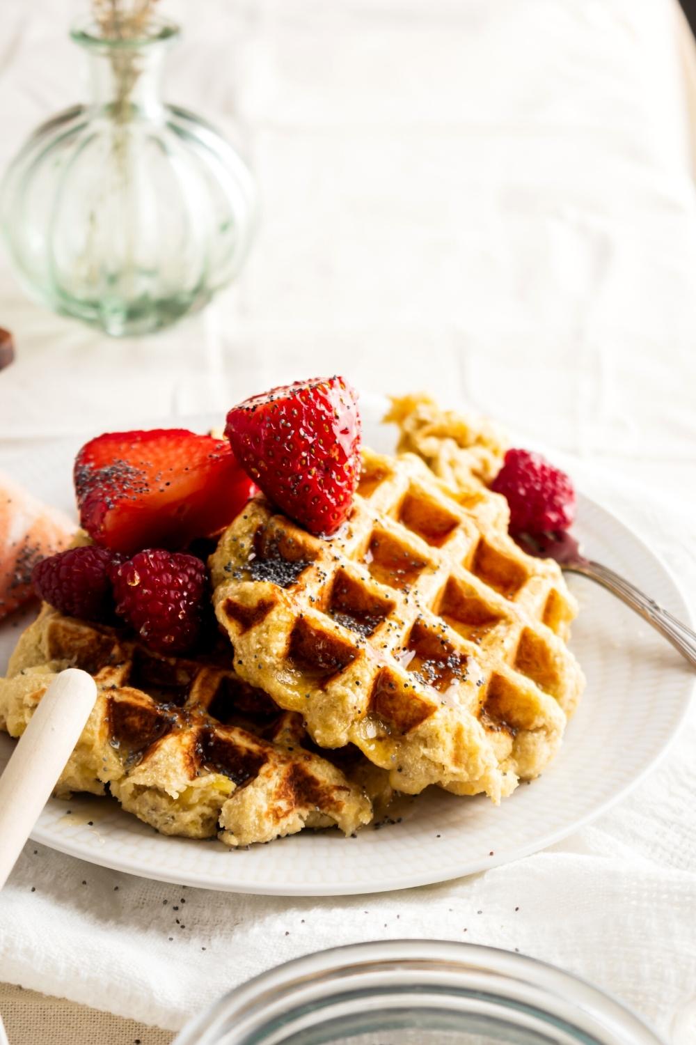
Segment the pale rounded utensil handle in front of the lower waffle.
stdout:
<svg viewBox="0 0 696 1045">
<path fill-rule="evenodd" d="M 91 675 L 56 675 L 0 776 L 0 889 L 46 805 L 94 707 Z"/>
</svg>

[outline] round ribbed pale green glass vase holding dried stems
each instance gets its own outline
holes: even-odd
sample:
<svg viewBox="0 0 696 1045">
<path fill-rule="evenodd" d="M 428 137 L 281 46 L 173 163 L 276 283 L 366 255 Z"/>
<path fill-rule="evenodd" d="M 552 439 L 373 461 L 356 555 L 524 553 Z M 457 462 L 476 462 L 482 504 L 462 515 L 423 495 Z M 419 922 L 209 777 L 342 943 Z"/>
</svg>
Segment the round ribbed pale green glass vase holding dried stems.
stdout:
<svg viewBox="0 0 696 1045">
<path fill-rule="evenodd" d="M 42 124 L 9 165 L 0 216 L 27 289 L 110 334 L 200 308 L 239 272 L 256 192 L 237 152 L 160 96 L 175 25 L 104 39 L 83 21 L 91 97 Z"/>
</svg>

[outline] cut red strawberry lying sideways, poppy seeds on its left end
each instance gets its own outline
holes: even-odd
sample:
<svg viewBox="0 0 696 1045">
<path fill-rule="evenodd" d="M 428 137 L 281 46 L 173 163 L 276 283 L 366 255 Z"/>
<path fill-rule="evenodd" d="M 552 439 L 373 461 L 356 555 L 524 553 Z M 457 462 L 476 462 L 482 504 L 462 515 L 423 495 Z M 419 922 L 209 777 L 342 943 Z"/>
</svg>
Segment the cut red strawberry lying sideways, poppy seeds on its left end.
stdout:
<svg viewBox="0 0 696 1045">
<path fill-rule="evenodd" d="M 98 436 L 77 455 L 74 482 L 82 527 L 126 554 L 216 533 L 256 492 L 227 442 L 185 428 Z"/>
</svg>

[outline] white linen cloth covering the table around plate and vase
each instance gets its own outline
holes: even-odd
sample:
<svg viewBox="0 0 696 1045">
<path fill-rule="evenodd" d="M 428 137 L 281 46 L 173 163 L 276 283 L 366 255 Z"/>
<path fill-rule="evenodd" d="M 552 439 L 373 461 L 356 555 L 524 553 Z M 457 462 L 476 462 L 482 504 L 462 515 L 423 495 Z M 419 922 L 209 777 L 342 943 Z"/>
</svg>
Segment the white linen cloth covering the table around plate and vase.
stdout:
<svg viewBox="0 0 696 1045">
<path fill-rule="evenodd" d="M 3 259 L 0 467 L 315 372 L 426 388 L 565 452 L 696 609 L 694 67 L 671 0 L 163 8 L 186 29 L 169 96 L 246 142 L 254 254 L 203 315 L 124 342 L 28 302 Z M 2 163 L 78 96 L 71 9 L 3 0 Z M 692 714 L 629 798 L 545 853 L 391 896 L 181 889 L 29 844 L 0 895 L 0 981 L 175 1028 L 286 957 L 438 935 L 555 961 L 689 1045 L 695 740 Z"/>
</svg>

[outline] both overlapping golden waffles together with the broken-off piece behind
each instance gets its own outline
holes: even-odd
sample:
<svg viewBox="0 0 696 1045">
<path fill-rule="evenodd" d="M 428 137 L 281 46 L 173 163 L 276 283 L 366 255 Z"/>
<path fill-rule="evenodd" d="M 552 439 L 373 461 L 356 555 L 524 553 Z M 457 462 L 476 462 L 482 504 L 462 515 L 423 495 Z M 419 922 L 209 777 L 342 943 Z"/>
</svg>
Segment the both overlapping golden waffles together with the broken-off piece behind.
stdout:
<svg viewBox="0 0 696 1045">
<path fill-rule="evenodd" d="M 582 688 L 575 604 L 507 534 L 484 483 L 502 446 L 448 417 L 394 404 L 414 452 L 363 452 L 332 539 L 249 502 L 210 560 L 206 655 L 44 606 L 0 679 L 0 727 L 19 736 L 52 675 L 82 668 L 98 699 L 57 793 L 109 790 L 165 834 L 233 846 L 352 834 L 430 785 L 498 803 L 538 775 Z"/>
</svg>

